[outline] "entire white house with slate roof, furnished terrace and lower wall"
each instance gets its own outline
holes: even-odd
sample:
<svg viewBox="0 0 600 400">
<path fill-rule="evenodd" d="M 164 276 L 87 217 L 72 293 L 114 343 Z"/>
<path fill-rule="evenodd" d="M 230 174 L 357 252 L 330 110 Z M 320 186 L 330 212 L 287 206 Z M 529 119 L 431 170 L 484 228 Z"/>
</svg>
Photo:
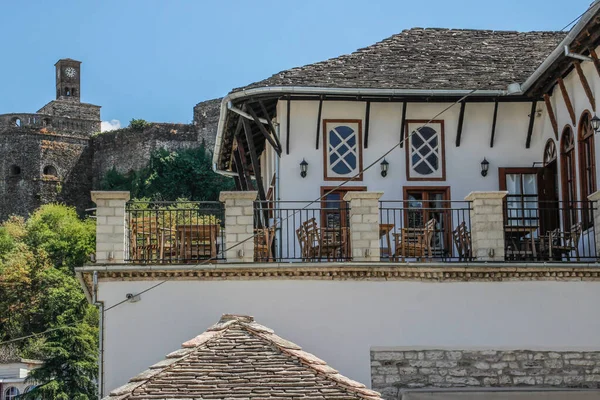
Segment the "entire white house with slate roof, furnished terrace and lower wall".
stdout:
<svg viewBox="0 0 600 400">
<path fill-rule="evenodd" d="M 104 394 L 235 312 L 385 399 L 597 396 L 599 16 L 412 29 L 281 72 L 222 102 L 214 162 L 239 191 L 93 192 L 77 274 Z"/>
</svg>

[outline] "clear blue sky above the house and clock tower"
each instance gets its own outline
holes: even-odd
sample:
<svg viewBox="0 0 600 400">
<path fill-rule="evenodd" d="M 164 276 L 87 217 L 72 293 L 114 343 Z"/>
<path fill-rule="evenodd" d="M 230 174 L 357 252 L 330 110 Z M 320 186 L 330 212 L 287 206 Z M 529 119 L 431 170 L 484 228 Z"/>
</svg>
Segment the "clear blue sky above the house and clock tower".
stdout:
<svg viewBox="0 0 600 400">
<path fill-rule="evenodd" d="M 559 30 L 591 0 L 30 0 L 2 2 L 0 114 L 54 97 L 83 61 L 103 120 L 190 122 L 193 106 L 411 27 Z"/>
</svg>

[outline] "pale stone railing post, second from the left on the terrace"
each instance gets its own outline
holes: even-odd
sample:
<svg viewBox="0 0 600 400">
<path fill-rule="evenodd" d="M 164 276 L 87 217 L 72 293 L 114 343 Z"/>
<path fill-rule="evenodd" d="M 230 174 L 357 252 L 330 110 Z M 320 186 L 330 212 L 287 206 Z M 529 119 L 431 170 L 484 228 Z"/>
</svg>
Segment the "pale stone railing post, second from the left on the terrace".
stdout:
<svg viewBox="0 0 600 400">
<path fill-rule="evenodd" d="M 227 262 L 254 261 L 254 201 L 256 191 L 221 192 L 225 203 L 225 258 Z M 244 241 L 243 244 L 237 245 Z M 237 245 L 237 246 L 236 246 Z"/>
</svg>

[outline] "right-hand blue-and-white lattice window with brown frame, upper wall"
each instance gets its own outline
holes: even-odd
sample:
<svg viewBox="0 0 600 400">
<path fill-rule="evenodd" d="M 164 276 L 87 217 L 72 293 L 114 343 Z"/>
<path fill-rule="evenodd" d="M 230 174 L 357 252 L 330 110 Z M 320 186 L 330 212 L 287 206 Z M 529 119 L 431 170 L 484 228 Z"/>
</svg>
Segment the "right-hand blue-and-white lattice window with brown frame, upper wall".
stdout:
<svg viewBox="0 0 600 400">
<path fill-rule="evenodd" d="M 441 122 L 423 126 L 420 122 L 409 122 L 407 154 L 409 168 L 408 179 L 443 180 L 444 179 L 444 137 Z"/>
</svg>

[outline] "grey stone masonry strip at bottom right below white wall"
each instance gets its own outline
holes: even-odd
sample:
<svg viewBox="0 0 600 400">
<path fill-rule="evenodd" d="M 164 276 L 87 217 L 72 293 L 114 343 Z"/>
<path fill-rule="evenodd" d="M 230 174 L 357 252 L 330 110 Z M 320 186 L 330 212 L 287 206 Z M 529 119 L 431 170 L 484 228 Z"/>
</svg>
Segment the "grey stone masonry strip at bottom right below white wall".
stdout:
<svg viewBox="0 0 600 400">
<path fill-rule="evenodd" d="M 600 351 L 371 350 L 372 387 L 600 387 Z"/>
</svg>

